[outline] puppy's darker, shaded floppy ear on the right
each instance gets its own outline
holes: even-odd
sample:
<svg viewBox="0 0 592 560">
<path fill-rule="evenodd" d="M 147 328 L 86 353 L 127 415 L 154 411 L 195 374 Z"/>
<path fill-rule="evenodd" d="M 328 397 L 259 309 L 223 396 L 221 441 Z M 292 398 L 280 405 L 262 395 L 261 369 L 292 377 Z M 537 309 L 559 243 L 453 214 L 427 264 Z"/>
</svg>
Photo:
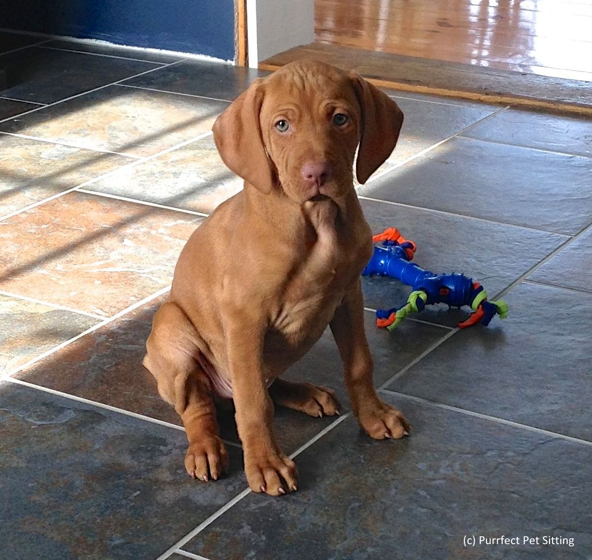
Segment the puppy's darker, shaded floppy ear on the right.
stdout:
<svg viewBox="0 0 592 560">
<path fill-rule="evenodd" d="M 397 103 L 361 76 L 351 76 L 361 112 L 361 137 L 356 177 L 363 184 L 391 155 L 397 144 L 403 111 Z"/>
</svg>

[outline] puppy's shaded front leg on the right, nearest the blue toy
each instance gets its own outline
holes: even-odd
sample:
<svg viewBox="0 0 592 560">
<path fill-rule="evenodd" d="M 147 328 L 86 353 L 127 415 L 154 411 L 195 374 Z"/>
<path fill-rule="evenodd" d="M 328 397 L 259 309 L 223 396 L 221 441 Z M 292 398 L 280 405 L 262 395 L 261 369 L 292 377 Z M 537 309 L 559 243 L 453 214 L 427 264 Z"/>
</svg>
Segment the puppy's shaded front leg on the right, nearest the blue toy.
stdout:
<svg viewBox="0 0 592 560">
<path fill-rule="evenodd" d="M 409 423 L 403 414 L 382 401 L 374 388 L 374 362 L 364 328 L 362 284 L 346 292 L 330 323 L 345 370 L 345 384 L 354 415 L 371 438 L 402 438 Z"/>
</svg>

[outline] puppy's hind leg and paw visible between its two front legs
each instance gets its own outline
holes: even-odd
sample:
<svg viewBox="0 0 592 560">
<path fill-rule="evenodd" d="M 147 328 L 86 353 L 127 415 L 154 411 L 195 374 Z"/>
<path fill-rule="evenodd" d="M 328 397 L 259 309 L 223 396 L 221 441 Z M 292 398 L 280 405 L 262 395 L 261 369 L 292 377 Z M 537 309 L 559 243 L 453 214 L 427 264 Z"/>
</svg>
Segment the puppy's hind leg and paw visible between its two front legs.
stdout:
<svg viewBox="0 0 592 560">
<path fill-rule="evenodd" d="M 309 416 L 339 414 L 340 404 L 332 389 L 311 383 L 292 383 L 277 378 L 269 387 L 269 396 L 278 406 L 304 412 Z"/>
</svg>

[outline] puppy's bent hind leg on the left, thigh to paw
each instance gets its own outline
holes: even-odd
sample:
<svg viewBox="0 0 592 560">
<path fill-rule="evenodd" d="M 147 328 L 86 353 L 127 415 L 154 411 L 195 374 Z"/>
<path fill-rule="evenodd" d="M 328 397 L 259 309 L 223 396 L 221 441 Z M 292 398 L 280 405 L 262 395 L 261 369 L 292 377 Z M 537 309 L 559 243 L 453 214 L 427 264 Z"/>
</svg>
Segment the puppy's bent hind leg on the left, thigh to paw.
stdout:
<svg viewBox="0 0 592 560">
<path fill-rule="evenodd" d="M 175 303 L 167 302 L 156 312 L 146 347 L 144 365 L 185 426 L 189 476 L 217 480 L 228 468 L 228 452 L 218 436 L 210 379 L 197 362 L 197 332 Z"/>
</svg>

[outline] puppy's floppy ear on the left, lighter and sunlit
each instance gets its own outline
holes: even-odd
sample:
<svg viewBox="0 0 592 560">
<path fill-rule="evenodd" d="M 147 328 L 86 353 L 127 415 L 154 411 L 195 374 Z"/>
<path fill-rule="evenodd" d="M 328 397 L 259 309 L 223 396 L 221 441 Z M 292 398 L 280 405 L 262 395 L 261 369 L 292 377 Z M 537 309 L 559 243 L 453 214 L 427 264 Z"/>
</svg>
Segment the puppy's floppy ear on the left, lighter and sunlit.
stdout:
<svg viewBox="0 0 592 560">
<path fill-rule="evenodd" d="M 262 103 L 263 86 L 258 79 L 218 116 L 212 130 L 218 152 L 230 170 L 268 194 L 274 175 L 261 135 Z"/>
</svg>

